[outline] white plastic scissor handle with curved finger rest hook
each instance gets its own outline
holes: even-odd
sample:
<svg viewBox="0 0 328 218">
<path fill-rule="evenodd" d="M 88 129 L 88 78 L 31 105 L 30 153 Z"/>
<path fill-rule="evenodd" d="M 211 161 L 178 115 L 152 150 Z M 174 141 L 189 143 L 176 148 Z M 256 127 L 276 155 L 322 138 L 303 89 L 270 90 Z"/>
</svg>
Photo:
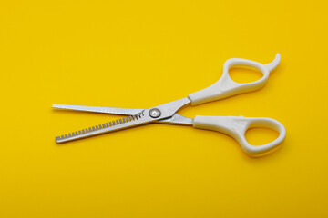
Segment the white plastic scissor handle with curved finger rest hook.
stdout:
<svg viewBox="0 0 328 218">
<path fill-rule="evenodd" d="M 210 87 L 200 90 L 199 92 L 190 94 L 191 105 L 203 104 L 211 101 L 216 101 L 222 98 L 230 97 L 231 95 L 247 93 L 260 89 L 269 78 L 270 72 L 280 63 L 281 55 L 276 54 L 274 60 L 270 64 L 261 64 L 258 62 L 241 59 L 232 58 L 227 60 L 223 65 L 223 74 L 220 80 L 215 84 L 210 85 Z M 263 76 L 261 79 L 245 84 L 239 84 L 234 82 L 229 75 L 229 69 L 232 66 L 250 66 L 261 71 Z"/>
</svg>

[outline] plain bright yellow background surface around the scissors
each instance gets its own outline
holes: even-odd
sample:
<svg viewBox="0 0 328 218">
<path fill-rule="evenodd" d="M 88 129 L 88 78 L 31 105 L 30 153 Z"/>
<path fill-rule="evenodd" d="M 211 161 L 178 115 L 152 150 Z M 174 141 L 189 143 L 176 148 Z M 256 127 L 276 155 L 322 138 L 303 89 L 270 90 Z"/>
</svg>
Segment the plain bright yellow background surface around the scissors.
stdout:
<svg viewBox="0 0 328 218">
<path fill-rule="evenodd" d="M 325 1 L 1 1 L 0 217 L 327 217 L 327 25 Z M 277 119 L 273 154 L 164 124 L 55 143 L 118 116 L 52 104 L 147 108 L 277 52 L 260 91 L 180 111 Z"/>
</svg>

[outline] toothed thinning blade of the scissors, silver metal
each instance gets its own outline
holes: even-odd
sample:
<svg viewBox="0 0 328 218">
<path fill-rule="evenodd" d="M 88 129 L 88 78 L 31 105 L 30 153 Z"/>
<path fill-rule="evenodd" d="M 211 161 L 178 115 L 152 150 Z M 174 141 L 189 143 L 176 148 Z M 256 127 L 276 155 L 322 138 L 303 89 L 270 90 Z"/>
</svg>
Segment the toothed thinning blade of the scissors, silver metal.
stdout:
<svg viewBox="0 0 328 218">
<path fill-rule="evenodd" d="M 109 132 L 118 131 L 121 129 L 129 128 L 139 124 L 146 124 L 152 122 L 153 119 L 149 114 L 145 114 L 145 111 L 142 111 L 139 114 L 126 116 L 115 121 L 111 121 L 105 124 L 97 124 L 79 131 L 75 131 L 70 134 L 63 134 L 56 137 L 56 143 L 66 143 L 77 139 L 82 139 L 97 134 L 107 134 Z"/>
</svg>

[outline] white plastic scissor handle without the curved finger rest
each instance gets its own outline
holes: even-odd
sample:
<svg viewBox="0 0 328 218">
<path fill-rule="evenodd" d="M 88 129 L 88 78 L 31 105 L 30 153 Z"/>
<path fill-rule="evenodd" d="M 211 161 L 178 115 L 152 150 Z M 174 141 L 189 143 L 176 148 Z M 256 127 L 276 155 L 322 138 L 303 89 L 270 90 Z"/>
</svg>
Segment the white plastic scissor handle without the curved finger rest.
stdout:
<svg viewBox="0 0 328 218">
<path fill-rule="evenodd" d="M 250 156 L 261 156 L 275 150 L 286 137 L 286 129 L 276 120 L 265 117 L 243 116 L 196 116 L 193 126 L 199 129 L 214 130 L 228 134 L 241 144 L 242 150 Z M 269 144 L 251 145 L 245 138 L 246 131 L 251 127 L 266 127 L 279 133 L 277 139 Z"/>
</svg>

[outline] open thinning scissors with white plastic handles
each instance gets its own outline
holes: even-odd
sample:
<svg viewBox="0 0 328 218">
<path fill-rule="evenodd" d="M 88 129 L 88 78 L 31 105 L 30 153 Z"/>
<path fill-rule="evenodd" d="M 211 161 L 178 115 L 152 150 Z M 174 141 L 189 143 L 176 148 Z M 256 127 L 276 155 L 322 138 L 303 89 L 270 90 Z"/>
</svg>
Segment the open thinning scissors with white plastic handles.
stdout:
<svg viewBox="0 0 328 218">
<path fill-rule="evenodd" d="M 260 89 L 268 81 L 270 72 L 276 68 L 281 61 L 281 55 L 276 54 L 270 64 L 261 64 L 255 61 L 231 58 L 223 65 L 223 73 L 220 80 L 210 87 L 200 90 L 199 92 L 189 94 L 188 97 L 179 99 L 167 104 L 161 104 L 148 109 L 138 108 L 119 108 L 119 107 L 97 107 L 97 106 L 80 106 L 67 104 L 53 104 L 54 108 L 96 112 L 104 114 L 123 114 L 128 115 L 125 118 L 116 121 L 98 124 L 85 128 L 70 134 L 63 134 L 56 137 L 56 143 L 66 143 L 69 141 L 86 138 L 97 134 L 106 134 L 113 131 L 127 129 L 141 124 L 158 123 L 158 124 L 181 124 L 191 125 L 198 129 L 218 131 L 233 137 L 240 145 L 242 150 L 250 156 L 261 156 L 271 153 L 282 144 L 286 136 L 284 126 L 272 118 L 265 117 L 243 117 L 243 116 L 201 116 L 196 115 L 194 119 L 177 114 L 177 111 L 183 106 L 191 104 L 192 106 L 204 104 L 211 101 L 220 100 L 235 94 L 242 94 Z M 233 66 L 246 66 L 259 70 L 262 74 L 261 79 L 239 84 L 231 79 L 229 69 Z M 259 146 L 251 145 L 245 138 L 245 133 L 252 127 L 270 128 L 279 133 L 277 139 L 269 144 Z"/>
</svg>

